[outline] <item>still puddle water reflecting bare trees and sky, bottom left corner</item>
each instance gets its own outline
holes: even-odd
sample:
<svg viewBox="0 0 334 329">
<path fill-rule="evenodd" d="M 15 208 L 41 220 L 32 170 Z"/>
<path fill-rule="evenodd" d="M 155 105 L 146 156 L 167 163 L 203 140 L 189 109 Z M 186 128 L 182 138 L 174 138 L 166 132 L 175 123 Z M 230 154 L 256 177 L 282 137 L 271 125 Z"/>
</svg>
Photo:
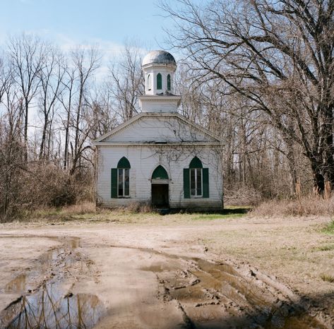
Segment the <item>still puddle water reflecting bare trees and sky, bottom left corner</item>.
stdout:
<svg viewBox="0 0 334 329">
<path fill-rule="evenodd" d="M 0 314 L 0 328 L 93 328 L 105 308 L 93 294 L 67 294 L 49 283 L 13 301 Z"/>
</svg>

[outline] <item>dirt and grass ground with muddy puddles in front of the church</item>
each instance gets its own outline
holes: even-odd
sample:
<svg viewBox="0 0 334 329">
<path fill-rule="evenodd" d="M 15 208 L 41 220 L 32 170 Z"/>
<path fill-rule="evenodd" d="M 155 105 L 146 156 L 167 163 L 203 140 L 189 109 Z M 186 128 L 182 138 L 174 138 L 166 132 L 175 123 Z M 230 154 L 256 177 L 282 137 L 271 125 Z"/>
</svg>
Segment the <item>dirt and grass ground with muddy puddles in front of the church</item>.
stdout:
<svg viewBox="0 0 334 329">
<path fill-rule="evenodd" d="M 0 226 L 0 328 L 334 328 L 329 218 Z"/>
</svg>

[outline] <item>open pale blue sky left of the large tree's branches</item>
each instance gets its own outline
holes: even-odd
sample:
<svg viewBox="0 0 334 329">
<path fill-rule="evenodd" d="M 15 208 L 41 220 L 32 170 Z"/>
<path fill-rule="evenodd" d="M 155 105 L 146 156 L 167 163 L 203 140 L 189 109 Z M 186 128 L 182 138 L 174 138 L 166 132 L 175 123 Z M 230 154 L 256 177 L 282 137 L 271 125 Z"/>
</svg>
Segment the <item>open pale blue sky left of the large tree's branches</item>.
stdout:
<svg viewBox="0 0 334 329">
<path fill-rule="evenodd" d="M 163 18 L 157 0 L 1 0 L 0 41 L 21 32 L 40 35 L 61 47 L 99 44 L 119 52 L 126 40 L 147 49 L 164 48 Z"/>
</svg>

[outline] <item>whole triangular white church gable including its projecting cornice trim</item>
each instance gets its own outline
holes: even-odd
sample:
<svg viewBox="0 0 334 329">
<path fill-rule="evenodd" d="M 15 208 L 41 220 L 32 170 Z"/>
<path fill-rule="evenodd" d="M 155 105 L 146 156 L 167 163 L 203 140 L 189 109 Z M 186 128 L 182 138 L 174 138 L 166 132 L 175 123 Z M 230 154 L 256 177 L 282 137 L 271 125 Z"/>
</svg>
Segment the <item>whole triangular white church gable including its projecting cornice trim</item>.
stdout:
<svg viewBox="0 0 334 329">
<path fill-rule="evenodd" d="M 180 114 L 141 113 L 94 140 L 94 143 L 220 142 L 210 131 Z"/>
</svg>

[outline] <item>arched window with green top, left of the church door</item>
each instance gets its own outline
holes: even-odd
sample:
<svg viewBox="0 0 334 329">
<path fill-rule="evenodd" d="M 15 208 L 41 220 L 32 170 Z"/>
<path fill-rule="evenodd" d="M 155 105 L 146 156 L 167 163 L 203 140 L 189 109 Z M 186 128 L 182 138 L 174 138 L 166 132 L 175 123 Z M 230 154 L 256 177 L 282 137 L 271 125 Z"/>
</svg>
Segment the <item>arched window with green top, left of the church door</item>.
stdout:
<svg viewBox="0 0 334 329">
<path fill-rule="evenodd" d="M 130 162 L 122 157 L 117 168 L 112 168 L 112 198 L 130 196 Z"/>
</svg>

